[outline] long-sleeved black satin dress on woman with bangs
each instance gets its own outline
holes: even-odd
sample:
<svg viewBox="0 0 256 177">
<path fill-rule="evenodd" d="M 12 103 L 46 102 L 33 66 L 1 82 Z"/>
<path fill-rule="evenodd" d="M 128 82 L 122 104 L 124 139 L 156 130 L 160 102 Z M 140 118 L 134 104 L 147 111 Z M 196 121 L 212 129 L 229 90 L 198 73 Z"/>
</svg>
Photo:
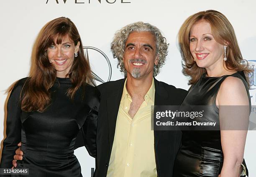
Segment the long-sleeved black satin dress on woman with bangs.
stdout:
<svg viewBox="0 0 256 177">
<path fill-rule="evenodd" d="M 3 177 L 82 177 L 74 155 L 77 133 L 82 129 L 84 143 L 90 155 L 96 155 L 96 128 L 100 94 L 95 87 L 80 88 L 70 100 L 69 79 L 57 78 L 51 91 L 51 104 L 44 112 L 20 110 L 20 92 L 26 78 L 13 88 L 8 100 L 6 139 L 3 142 L 0 168 L 11 168 L 13 155 L 22 142 L 23 160 L 17 168 L 28 168 L 29 175 Z M 86 153 L 86 152 L 84 152 Z M 1 175 L 0 175 L 1 176 Z M 1 176 L 1 177 L 2 177 Z"/>
</svg>

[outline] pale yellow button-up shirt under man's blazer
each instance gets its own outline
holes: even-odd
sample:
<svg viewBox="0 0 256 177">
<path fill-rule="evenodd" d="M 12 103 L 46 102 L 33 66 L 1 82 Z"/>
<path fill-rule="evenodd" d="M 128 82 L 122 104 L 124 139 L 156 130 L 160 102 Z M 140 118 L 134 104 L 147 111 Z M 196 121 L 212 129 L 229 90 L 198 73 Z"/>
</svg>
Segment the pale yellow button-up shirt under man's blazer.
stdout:
<svg viewBox="0 0 256 177">
<path fill-rule="evenodd" d="M 157 177 L 154 131 L 151 130 L 154 79 L 133 119 L 128 114 L 132 99 L 126 90 L 126 82 L 118 110 L 107 177 Z"/>
</svg>

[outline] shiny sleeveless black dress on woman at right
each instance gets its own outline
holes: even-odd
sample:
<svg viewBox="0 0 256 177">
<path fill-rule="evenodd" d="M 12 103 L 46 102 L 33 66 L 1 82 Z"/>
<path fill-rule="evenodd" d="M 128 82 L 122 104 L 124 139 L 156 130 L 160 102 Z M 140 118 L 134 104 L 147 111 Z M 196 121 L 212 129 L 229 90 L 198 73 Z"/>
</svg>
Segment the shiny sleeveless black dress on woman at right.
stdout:
<svg viewBox="0 0 256 177">
<path fill-rule="evenodd" d="M 205 77 L 190 87 L 182 105 L 216 105 L 216 96 L 221 83 L 228 76 L 240 78 L 249 95 L 246 77 L 243 72 L 222 77 Z M 214 106 L 213 106 L 214 107 Z M 212 107 L 212 108 L 213 108 Z M 219 122 L 219 110 L 215 106 L 206 117 Z M 174 177 L 218 177 L 223 165 L 223 151 L 220 131 L 182 131 L 182 146 L 174 165 Z"/>
</svg>

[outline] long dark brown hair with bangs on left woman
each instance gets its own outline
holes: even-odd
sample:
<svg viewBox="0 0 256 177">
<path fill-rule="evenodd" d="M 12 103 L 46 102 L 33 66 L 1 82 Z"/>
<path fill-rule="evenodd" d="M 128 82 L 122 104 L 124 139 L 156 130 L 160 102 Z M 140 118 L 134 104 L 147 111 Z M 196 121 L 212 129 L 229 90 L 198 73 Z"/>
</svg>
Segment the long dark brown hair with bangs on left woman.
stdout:
<svg viewBox="0 0 256 177">
<path fill-rule="evenodd" d="M 90 64 L 84 56 L 82 41 L 74 23 L 67 17 L 59 17 L 48 22 L 41 30 L 36 42 L 35 57 L 32 56 L 32 69 L 30 77 L 25 82 L 21 94 L 21 109 L 25 112 L 43 112 L 51 102 L 49 89 L 56 80 L 56 70 L 49 62 L 47 49 L 50 45 L 61 44 L 65 36 L 77 45 L 80 42 L 78 56 L 72 63 L 67 76 L 72 87 L 67 90 L 67 96 L 74 98 L 79 87 L 94 84 Z M 66 77 L 67 77 L 66 76 Z"/>
</svg>

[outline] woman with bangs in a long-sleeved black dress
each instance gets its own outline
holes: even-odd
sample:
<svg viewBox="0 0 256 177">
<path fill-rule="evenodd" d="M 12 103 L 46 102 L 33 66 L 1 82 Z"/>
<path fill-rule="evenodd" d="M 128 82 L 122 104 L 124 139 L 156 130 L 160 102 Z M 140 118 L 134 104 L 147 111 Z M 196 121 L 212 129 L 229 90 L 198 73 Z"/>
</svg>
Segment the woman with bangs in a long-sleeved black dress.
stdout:
<svg viewBox="0 0 256 177">
<path fill-rule="evenodd" d="M 37 41 L 30 77 L 19 80 L 10 93 L 0 168 L 12 167 L 22 142 L 17 168 L 28 168 L 26 176 L 81 177 L 74 144 L 82 129 L 88 152 L 96 155 L 100 94 L 69 18 L 48 22 Z"/>
</svg>

